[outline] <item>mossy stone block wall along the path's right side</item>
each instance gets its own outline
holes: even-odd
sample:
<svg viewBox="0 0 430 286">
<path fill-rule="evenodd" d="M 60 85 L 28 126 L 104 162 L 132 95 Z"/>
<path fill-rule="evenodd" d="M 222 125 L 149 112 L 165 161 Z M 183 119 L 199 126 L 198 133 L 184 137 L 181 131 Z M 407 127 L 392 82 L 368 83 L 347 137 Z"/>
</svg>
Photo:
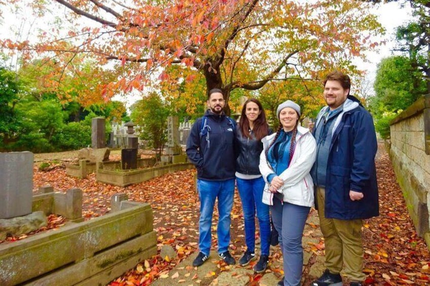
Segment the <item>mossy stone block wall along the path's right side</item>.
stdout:
<svg viewBox="0 0 430 286">
<path fill-rule="evenodd" d="M 389 149 L 409 214 L 430 246 L 430 95 L 418 99 L 391 122 Z"/>
</svg>

